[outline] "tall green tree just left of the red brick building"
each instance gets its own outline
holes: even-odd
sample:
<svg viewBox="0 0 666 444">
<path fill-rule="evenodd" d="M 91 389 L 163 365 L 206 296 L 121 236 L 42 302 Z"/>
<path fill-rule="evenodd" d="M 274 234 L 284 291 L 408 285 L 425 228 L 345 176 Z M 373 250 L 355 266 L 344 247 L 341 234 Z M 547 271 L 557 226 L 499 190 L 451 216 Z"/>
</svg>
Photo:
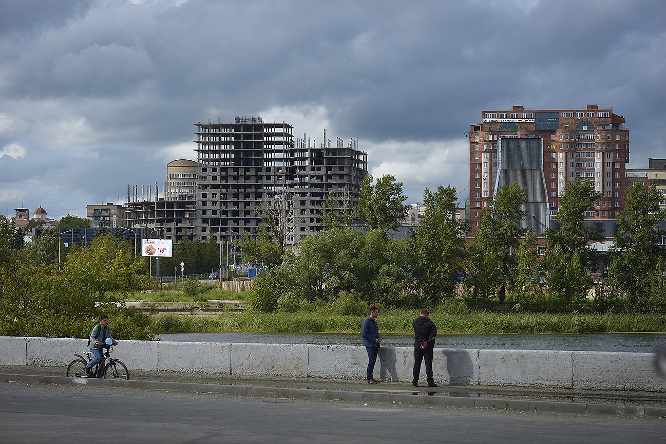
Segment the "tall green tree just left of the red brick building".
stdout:
<svg viewBox="0 0 666 444">
<path fill-rule="evenodd" d="M 453 295 L 464 271 L 468 223 L 453 217 L 458 200 L 454 187 L 440 185 L 435 193 L 426 188 L 423 199 L 426 210 L 412 236 L 412 265 L 424 295 L 441 301 Z"/>
</svg>

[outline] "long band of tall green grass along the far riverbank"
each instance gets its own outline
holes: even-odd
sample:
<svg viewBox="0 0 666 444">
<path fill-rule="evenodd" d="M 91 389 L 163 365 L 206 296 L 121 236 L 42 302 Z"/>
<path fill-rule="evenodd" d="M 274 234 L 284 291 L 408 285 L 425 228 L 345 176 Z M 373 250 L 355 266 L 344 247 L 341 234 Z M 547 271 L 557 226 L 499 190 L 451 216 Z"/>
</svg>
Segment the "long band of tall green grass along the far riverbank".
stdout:
<svg viewBox="0 0 666 444">
<path fill-rule="evenodd" d="M 410 334 L 415 310 L 380 311 L 381 333 Z M 332 315 L 320 311 L 261 313 L 244 311 L 214 316 L 157 315 L 155 333 L 358 333 L 365 319 L 358 315 Z M 666 315 L 653 314 L 547 314 L 434 312 L 430 319 L 440 334 L 505 333 L 628 333 L 666 332 Z"/>
</svg>

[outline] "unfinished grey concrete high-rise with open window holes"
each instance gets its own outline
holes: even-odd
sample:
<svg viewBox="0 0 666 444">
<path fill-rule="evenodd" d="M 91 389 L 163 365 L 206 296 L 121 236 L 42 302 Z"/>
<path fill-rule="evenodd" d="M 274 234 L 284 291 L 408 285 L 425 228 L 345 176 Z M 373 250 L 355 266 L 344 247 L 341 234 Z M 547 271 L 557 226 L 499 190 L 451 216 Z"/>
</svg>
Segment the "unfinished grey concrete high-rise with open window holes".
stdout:
<svg viewBox="0 0 666 444">
<path fill-rule="evenodd" d="M 332 197 L 336 211 L 354 205 L 368 175 L 368 155 L 358 141 L 318 146 L 294 140 L 292 125 L 236 117 L 232 123 L 195 123 L 200 172 L 196 237 L 254 235 L 256 209 L 277 203 L 287 244 L 322 229 L 321 207 Z M 331 193 L 331 194 L 329 194 Z"/>
</svg>

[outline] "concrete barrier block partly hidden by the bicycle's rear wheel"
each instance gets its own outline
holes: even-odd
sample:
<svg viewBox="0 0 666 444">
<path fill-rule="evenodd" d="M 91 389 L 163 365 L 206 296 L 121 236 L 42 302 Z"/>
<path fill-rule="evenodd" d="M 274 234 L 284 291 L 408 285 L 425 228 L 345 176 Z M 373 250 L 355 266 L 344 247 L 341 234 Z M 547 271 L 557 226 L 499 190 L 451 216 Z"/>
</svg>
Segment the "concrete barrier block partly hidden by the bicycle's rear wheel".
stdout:
<svg viewBox="0 0 666 444">
<path fill-rule="evenodd" d="M 26 341 L 27 365 L 63 367 L 78 359 L 74 353 L 83 355 L 88 350 L 88 339 L 29 337 Z"/>
</svg>

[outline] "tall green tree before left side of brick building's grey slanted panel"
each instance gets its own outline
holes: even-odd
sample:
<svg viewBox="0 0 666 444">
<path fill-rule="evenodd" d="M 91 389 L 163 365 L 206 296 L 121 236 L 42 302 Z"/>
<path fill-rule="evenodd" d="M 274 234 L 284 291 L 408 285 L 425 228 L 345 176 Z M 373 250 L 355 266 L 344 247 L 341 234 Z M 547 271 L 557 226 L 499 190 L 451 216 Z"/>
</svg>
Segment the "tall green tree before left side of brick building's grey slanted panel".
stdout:
<svg viewBox="0 0 666 444">
<path fill-rule="evenodd" d="M 504 303 L 506 287 L 516 273 L 516 255 L 519 237 L 527 231 L 519 223 L 527 214 L 521 207 L 527 203 L 527 189 L 517 182 L 501 185 L 498 193 L 490 201 L 487 209 L 481 213 L 481 226 L 472 241 L 472 259 L 474 261 L 499 261 L 498 299 Z M 486 254 L 490 251 L 490 257 Z M 496 258 L 496 259 L 495 259 Z M 490 265 L 490 264 L 488 264 Z M 488 265 L 476 263 L 474 269 L 488 271 Z"/>
</svg>

